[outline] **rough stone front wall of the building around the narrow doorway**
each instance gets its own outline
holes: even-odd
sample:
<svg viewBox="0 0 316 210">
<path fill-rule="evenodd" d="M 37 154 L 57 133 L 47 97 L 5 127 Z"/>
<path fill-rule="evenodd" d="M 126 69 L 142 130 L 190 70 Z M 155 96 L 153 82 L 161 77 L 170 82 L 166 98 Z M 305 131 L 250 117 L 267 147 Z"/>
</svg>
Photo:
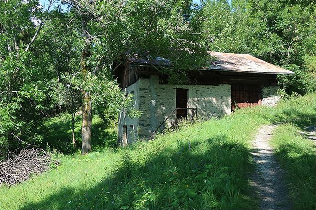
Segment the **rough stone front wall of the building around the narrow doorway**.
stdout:
<svg viewBox="0 0 316 210">
<path fill-rule="evenodd" d="M 170 85 L 159 84 L 158 76 L 141 78 L 139 82 L 139 137 L 148 137 L 176 108 L 176 88 L 189 89 L 188 108 L 197 108 L 197 114 L 206 118 L 218 117 L 231 112 L 231 87 L 223 84 L 212 85 Z M 189 111 L 188 115 L 192 116 Z M 171 126 L 175 112 L 166 121 Z M 165 124 L 161 127 L 163 129 Z"/>
</svg>

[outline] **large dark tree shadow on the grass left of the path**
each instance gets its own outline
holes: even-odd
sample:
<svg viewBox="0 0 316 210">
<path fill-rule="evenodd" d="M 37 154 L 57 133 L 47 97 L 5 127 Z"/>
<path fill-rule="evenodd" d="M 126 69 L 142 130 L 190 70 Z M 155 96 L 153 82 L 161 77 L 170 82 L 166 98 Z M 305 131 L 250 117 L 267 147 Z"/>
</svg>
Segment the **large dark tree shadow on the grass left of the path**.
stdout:
<svg viewBox="0 0 316 210">
<path fill-rule="evenodd" d="M 156 142 L 155 142 L 156 143 Z M 163 142 L 160 142 L 163 143 Z M 124 149 L 121 164 L 89 188 L 63 188 L 22 209 L 254 209 L 248 148 L 218 135 L 174 149 Z"/>
</svg>

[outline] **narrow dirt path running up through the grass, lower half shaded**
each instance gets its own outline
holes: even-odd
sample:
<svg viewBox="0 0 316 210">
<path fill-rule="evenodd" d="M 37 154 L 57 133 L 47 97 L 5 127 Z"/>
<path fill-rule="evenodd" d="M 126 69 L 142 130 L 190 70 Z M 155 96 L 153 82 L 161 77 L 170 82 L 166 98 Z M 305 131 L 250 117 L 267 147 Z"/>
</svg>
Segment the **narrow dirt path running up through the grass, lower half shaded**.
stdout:
<svg viewBox="0 0 316 210">
<path fill-rule="evenodd" d="M 260 210 L 291 209 L 283 171 L 275 161 L 273 148 L 269 144 L 275 127 L 276 125 L 268 125 L 259 129 L 251 153 L 256 162 L 256 173 L 252 176 L 252 184 L 261 199 Z"/>
</svg>

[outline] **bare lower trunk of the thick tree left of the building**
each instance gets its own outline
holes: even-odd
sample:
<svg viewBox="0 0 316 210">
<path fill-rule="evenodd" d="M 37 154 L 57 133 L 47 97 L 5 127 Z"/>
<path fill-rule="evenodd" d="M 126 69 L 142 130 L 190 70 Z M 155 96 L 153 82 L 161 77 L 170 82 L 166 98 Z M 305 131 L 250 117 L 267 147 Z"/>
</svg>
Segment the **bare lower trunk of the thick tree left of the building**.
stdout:
<svg viewBox="0 0 316 210">
<path fill-rule="evenodd" d="M 87 154 L 91 151 L 91 99 L 88 93 L 83 95 L 81 139 L 81 154 Z"/>
</svg>

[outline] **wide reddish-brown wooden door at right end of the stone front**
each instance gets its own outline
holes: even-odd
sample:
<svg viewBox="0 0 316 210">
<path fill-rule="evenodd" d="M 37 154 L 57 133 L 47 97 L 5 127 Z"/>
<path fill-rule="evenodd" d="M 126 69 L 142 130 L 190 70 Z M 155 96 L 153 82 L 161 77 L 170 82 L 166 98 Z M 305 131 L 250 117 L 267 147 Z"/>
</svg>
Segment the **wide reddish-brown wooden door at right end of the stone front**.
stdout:
<svg viewBox="0 0 316 210">
<path fill-rule="evenodd" d="M 261 105 L 261 88 L 258 85 L 231 85 L 231 110 Z"/>
</svg>

